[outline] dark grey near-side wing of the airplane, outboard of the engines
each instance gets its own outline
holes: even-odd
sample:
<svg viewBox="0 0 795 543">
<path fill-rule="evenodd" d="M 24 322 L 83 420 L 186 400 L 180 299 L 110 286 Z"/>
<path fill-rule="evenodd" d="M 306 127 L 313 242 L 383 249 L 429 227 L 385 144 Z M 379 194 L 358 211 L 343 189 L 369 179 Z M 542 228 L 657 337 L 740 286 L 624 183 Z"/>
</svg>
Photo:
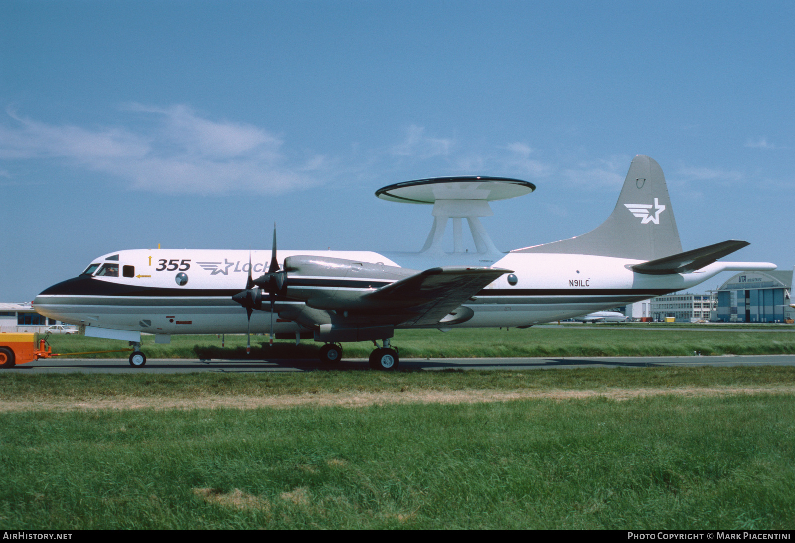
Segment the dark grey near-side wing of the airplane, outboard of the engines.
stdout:
<svg viewBox="0 0 795 543">
<path fill-rule="evenodd" d="M 401 306 L 408 316 L 403 324 L 436 324 L 483 287 L 511 270 L 486 267 L 431 268 L 395 281 L 363 296 L 386 307 Z"/>
</svg>

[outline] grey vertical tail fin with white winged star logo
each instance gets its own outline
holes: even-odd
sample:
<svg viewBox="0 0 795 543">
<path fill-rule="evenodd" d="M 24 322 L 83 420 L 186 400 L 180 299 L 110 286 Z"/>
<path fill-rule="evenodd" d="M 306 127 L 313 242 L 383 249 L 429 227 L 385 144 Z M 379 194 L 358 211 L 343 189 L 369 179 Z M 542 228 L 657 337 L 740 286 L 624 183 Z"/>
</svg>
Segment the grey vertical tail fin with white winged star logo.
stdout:
<svg viewBox="0 0 795 543">
<path fill-rule="evenodd" d="M 681 253 L 677 221 L 660 165 L 642 154 L 634 157 L 613 212 L 594 230 L 576 238 L 511 252 L 593 254 L 638 260 Z"/>
</svg>

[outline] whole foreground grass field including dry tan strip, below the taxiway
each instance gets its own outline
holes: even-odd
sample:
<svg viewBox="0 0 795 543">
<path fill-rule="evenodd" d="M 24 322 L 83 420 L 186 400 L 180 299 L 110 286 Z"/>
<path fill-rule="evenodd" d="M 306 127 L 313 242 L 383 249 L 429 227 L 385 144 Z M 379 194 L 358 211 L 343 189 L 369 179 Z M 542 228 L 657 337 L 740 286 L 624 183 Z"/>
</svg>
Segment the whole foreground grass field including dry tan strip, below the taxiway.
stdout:
<svg viewBox="0 0 795 543">
<path fill-rule="evenodd" d="M 0 373 L 0 529 L 789 529 L 793 391 L 789 367 Z M 200 397 L 242 407 L 157 408 Z"/>
</svg>

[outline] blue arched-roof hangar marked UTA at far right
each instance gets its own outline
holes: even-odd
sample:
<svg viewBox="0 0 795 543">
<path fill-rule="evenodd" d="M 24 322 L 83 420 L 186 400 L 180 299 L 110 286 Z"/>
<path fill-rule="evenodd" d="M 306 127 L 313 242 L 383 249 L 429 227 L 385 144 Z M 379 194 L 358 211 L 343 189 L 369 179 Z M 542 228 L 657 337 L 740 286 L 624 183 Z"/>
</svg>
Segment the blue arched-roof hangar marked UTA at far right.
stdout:
<svg viewBox="0 0 795 543">
<path fill-rule="evenodd" d="M 789 307 L 793 272 L 742 272 L 717 291 L 716 319 L 723 323 L 783 323 L 795 316 Z"/>
</svg>

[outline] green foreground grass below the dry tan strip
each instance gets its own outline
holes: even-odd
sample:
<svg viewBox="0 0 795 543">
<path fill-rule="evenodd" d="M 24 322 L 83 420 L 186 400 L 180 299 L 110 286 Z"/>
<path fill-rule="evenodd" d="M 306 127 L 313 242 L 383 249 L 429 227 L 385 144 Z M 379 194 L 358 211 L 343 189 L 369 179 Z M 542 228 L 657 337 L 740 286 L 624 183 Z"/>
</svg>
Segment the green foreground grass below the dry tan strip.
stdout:
<svg viewBox="0 0 795 543">
<path fill-rule="evenodd" d="M 4 413 L 0 528 L 788 529 L 792 399 Z"/>
</svg>

